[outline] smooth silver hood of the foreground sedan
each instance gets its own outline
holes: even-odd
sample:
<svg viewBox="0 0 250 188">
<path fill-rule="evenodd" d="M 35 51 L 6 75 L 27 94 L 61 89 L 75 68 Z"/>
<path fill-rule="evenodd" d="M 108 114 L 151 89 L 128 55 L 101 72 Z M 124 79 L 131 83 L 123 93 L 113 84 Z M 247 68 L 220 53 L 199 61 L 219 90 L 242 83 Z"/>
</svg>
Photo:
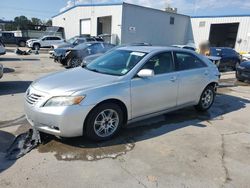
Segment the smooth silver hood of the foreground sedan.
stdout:
<svg viewBox="0 0 250 188">
<path fill-rule="evenodd" d="M 34 81 L 32 87 L 51 95 L 71 95 L 77 91 L 109 85 L 118 80 L 117 76 L 100 74 L 78 67 L 42 77 Z"/>
</svg>

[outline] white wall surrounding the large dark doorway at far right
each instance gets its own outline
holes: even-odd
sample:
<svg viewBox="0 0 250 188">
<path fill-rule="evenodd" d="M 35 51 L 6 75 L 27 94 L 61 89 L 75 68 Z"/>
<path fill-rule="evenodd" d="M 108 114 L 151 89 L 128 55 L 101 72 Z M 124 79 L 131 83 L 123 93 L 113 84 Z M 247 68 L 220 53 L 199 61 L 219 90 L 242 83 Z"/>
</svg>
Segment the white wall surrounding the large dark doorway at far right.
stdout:
<svg viewBox="0 0 250 188">
<path fill-rule="evenodd" d="M 199 27 L 200 22 L 204 21 L 205 26 Z M 235 50 L 246 52 L 250 51 L 250 16 L 192 18 L 191 23 L 196 46 L 205 40 L 209 40 L 211 24 L 239 23 L 236 41 L 241 39 L 242 42 L 240 44 L 236 42 Z"/>
</svg>

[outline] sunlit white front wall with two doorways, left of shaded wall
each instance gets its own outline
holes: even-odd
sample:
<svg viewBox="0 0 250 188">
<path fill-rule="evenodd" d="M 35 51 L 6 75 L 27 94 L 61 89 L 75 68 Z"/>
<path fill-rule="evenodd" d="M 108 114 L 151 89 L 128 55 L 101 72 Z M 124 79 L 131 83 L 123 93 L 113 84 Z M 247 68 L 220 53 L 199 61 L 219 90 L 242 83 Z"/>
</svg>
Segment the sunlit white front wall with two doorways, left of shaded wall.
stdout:
<svg viewBox="0 0 250 188">
<path fill-rule="evenodd" d="M 80 35 L 80 20 L 91 19 L 91 35 L 97 35 L 97 18 L 112 16 L 112 34 L 121 38 L 122 5 L 76 6 L 52 18 L 53 26 L 63 27 L 69 39 Z"/>
</svg>

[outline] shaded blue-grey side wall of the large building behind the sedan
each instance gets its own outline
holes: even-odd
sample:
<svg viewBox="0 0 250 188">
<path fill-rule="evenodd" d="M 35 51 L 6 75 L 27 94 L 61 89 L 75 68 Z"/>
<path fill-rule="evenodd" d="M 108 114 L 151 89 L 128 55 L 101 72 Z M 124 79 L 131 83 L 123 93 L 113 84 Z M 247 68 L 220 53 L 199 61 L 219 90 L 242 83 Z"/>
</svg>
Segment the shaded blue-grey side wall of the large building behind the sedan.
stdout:
<svg viewBox="0 0 250 188">
<path fill-rule="evenodd" d="M 175 18 L 174 25 L 170 25 L 170 17 Z M 193 42 L 190 17 L 124 3 L 121 39 L 125 44 L 187 44 Z"/>
</svg>

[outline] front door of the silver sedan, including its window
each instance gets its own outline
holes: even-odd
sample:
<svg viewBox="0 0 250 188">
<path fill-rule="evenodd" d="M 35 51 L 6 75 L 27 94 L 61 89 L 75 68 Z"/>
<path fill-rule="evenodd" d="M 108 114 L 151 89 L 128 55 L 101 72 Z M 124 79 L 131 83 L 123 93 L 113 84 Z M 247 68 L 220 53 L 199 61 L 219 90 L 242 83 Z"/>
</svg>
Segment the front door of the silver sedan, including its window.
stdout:
<svg viewBox="0 0 250 188">
<path fill-rule="evenodd" d="M 132 117 L 139 117 L 175 107 L 178 77 L 171 52 L 159 53 L 141 68 L 151 69 L 155 75 L 131 80 Z"/>
</svg>

